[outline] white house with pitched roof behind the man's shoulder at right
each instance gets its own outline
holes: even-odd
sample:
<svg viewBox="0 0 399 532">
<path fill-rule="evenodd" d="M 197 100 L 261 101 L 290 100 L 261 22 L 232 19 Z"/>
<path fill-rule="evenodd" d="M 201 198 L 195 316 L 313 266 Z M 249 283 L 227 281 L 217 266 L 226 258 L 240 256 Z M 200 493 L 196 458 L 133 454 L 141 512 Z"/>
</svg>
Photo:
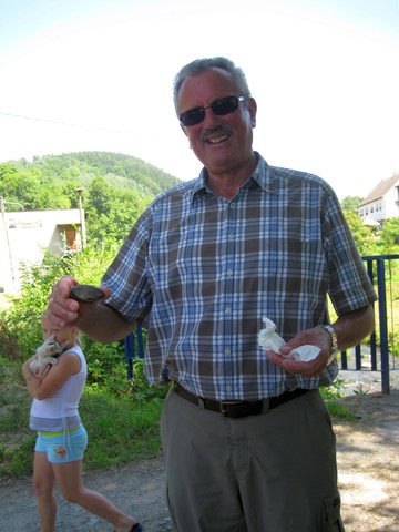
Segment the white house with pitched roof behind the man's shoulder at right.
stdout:
<svg viewBox="0 0 399 532">
<path fill-rule="evenodd" d="M 365 225 L 383 225 L 388 218 L 399 217 L 399 173 L 382 180 L 357 207 Z"/>
</svg>

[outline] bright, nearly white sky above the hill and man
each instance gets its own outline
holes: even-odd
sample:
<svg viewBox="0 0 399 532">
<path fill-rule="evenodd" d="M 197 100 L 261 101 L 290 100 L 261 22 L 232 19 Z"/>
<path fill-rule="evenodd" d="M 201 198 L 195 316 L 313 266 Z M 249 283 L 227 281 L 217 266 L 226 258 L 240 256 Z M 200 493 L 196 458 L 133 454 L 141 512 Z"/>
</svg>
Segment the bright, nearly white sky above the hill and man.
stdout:
<svg viewBox="0 0 399 532">
<path fill-rule="evenodd" d="M 111 151 L 196 177 L 172 83 L 214 55 L 246 73 L 269 164 L 340 200 L 399 172 L 399 0 L 0 0 L 0 163 Z"/>
</svg>

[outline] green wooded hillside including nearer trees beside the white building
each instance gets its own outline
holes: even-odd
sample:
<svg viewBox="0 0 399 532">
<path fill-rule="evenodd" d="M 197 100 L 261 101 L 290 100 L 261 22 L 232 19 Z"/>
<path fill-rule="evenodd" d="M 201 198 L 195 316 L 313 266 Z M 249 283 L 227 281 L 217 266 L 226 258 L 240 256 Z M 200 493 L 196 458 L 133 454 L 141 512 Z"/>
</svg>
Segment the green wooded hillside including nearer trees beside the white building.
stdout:
<svg viewBox="0 0 399 532">
<path fill-rule="evenodd" d="M 120 153 L 68 153 L 0 164 L 0 196 L 7 211 L 78 208 L 81 197 L 88 242 L 94 245 L 123 242 L 154 197 L 178 183 L 162 170 Z"/>
</svg>

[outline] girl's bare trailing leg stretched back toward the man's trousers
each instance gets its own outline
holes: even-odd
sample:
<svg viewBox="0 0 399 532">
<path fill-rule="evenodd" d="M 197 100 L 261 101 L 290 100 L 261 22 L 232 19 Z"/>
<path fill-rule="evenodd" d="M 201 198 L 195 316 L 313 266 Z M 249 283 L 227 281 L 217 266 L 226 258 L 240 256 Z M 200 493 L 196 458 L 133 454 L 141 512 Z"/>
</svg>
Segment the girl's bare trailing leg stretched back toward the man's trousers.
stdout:
<svg viewBox="0 0 399 532">
<path fill-rule="evenodd" d="M 53 471 L 62 495 L 91 513 L 113 524 L 116 532 L 130 532 L 136 521 L 122 513 L 105 497 L 84 488 L 82 480 L 82 460 L 66 463 L 53 463 Z"/>
</svg>

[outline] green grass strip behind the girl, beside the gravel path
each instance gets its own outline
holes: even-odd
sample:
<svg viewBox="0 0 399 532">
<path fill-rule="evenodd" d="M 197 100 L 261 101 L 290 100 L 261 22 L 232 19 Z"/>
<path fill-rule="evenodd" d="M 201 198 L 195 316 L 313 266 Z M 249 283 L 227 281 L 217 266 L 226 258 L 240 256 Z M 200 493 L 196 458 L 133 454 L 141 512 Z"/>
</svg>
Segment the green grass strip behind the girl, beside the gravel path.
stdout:
<svg viewBox="0 0 399 532">
<path fill-rule="evenodd" d="M 0 477 L 32 472 L 35 432 L 30 430 L 31 397 L 24 387 L 0 387 Z M 163 401 L 115 398 L 86 389 L 80 413 L 89 433 L 84 469 L 95 470 L 154 457 L 160 451 Z"/>
</svg>

